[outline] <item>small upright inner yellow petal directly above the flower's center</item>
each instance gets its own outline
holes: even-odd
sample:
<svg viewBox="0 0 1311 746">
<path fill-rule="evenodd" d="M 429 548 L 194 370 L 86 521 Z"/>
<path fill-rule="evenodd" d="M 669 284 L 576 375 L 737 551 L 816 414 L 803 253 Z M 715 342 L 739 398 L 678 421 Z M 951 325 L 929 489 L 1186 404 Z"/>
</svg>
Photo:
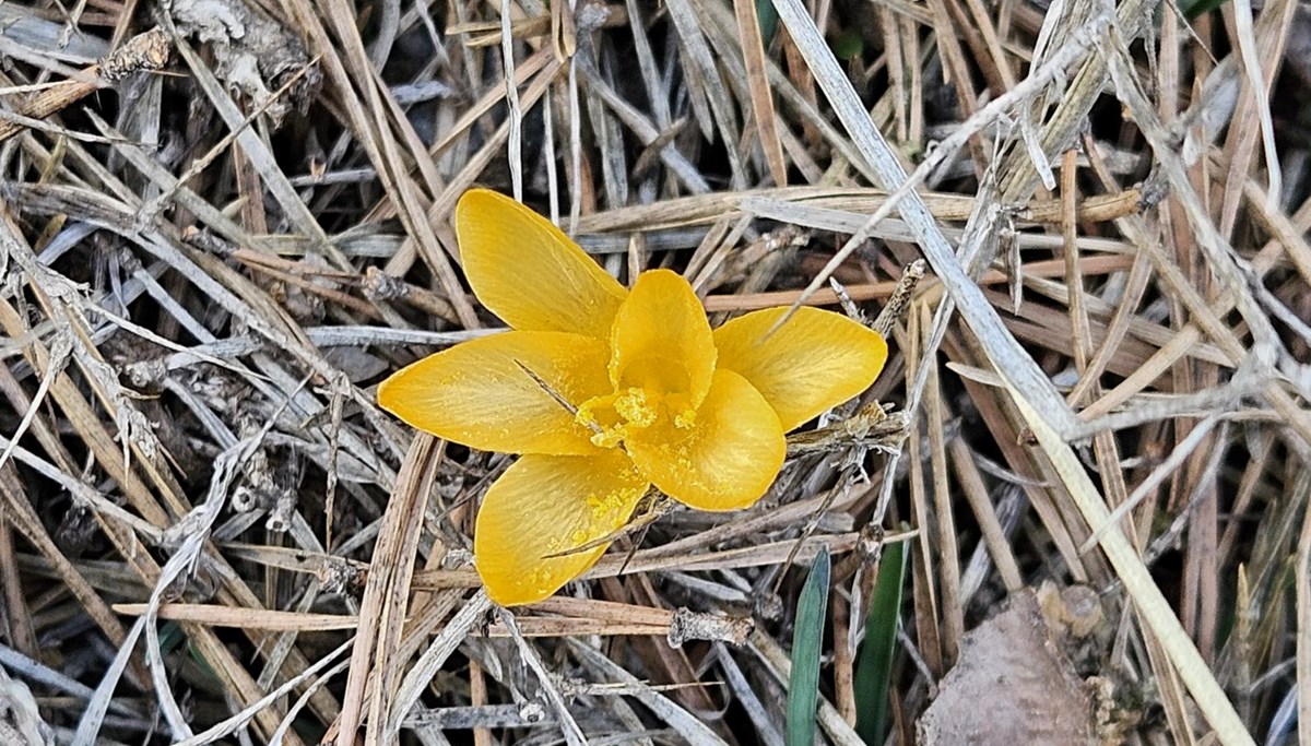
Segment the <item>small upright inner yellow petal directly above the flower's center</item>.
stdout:
<svg viewBox="0 0 1311 746">
<path fill-rule="evenodd" d="M 711 388 L 711 324 L 692 286 L 670 270 L 637 277 L 615 317 L 611 350 L 610 380 L 616 389 L 688 395 L 695 409 Z"/>
</svg>

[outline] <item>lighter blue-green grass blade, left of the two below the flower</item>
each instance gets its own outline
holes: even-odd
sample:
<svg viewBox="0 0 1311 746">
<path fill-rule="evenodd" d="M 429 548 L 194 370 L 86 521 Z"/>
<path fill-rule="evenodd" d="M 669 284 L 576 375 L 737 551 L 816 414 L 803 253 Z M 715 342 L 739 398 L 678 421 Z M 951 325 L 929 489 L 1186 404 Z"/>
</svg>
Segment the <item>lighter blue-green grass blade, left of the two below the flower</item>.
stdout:
<svg viewBox="0 0 1311 746">
<path fill-rule="evenodd" d="M 822 547 L 797 600 L 792 633 L 792 675 L 788 679 L 788 746 L 812 746 L 819 704 L 819 653 L 829 615 L 829 548 Z"/>
</svg>

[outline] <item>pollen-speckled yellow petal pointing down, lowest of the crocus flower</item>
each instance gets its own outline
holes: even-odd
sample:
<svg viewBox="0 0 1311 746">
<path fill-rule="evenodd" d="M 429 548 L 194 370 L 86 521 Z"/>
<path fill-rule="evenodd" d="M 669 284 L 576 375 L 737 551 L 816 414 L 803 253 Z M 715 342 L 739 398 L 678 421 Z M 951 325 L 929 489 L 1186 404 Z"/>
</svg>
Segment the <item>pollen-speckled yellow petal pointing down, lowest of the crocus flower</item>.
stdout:
<svg viewBox="0 0 1311 746">
<path fill-rule="evenodd" d="M 621 451 L 523 456 L 492 485 L 479 510 L 473 556 L 492 600 L 541 600 L 606 553 L 602 539 L 628 522 L 648 482 Z"/>
</svg>

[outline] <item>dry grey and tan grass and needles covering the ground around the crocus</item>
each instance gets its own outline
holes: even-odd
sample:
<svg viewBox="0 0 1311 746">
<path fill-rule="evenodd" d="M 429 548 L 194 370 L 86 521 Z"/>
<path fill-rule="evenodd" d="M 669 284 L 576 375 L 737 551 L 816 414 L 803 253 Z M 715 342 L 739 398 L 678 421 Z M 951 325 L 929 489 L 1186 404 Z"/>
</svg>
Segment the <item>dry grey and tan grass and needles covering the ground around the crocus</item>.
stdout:
<svg viewBox="0 0 1311 746">
<path fill-rule="evenodd" d="M 1045 583 L 1103 607 L 1067 649 L 1103 741 L 1311 739 L 1306 8 L 576 5 L 0 7 L 0 665 L 59 742 L 781 743 L 827 547 L 819 726 L 859 743 L 886 541 L 893 742 Z M 718 320 L 874 316 L 927 260 L 859 402 L 905 447 L 848 406 L 755 507 L 494 608 L 507 459 L 372 393 L 498 324 L 475 184 Z"/>
</svg>

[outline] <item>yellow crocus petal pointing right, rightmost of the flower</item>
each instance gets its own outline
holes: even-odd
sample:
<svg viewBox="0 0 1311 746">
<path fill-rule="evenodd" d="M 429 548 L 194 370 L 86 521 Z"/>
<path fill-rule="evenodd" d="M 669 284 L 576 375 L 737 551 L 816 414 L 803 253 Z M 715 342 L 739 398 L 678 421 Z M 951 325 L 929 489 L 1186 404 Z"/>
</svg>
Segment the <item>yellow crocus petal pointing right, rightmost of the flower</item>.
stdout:
<svg viewBox="0 0 1311 746">
<path fill-rule="evenodd" d="M 787 311 L 755 311 L 714 330 L 718 366 L 751 382 L 784 431 L 869 388 L 888 361 L 878 332 L 818 308 L 798 308 L 766 337 Z"/>
</svg>

